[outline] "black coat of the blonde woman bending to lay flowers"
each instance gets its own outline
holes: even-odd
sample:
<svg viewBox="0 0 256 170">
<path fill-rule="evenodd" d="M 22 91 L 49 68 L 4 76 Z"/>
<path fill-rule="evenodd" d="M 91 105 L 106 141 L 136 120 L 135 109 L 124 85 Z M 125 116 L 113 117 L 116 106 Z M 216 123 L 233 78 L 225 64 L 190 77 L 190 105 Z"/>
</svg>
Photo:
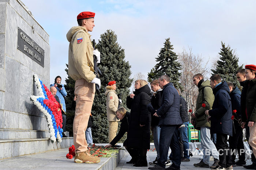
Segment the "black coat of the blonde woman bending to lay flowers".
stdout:
<svg viewBox="0 0 256 170">
<path fill-rule="evenodd" d="M 120 124 L 120 130 L 119 130 L 118 134 L 110 142 L 110 144 L 112 144 L 112 146 L 114 146 L 124 136 L 125 132 L 128 132 L 130 121 L 131 121 L 131 115 L 129 112 L 126 112 L 124 118 L 122 120 L 120 120 L 121 124 Z"/>
</svg>

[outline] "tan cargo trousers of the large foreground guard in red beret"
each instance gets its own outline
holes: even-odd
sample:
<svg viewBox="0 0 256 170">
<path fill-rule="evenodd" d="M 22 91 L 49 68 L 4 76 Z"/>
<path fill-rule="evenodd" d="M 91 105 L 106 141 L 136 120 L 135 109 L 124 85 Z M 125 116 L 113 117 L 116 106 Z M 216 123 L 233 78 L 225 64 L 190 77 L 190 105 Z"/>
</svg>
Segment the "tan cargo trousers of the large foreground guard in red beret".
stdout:
<svg viewBox="0 0 256 170">
<path fill-rule="evenodd" d="M 85 79 L 78 79 L 75 83 L 76 111 L 73 123 L 74 146 L 76 152 L 87 151 L 85 131 L 88 125 L 91 107 L 95 95 L 95 84 Z"/>
</svg>

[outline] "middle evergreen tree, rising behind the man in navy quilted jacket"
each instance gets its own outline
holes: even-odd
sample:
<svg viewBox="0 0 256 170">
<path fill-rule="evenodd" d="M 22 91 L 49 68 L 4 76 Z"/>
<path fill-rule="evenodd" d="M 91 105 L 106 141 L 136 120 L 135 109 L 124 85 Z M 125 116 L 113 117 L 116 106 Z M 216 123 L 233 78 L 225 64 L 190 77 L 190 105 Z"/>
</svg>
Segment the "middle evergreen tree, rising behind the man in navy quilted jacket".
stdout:
<svg viewBox="0 0 256 170">
<path fill-rule="evenodd" d="M 158 79 L 163 74 L 166 74 L 170 77 L 173 85 L 182 90 L 182 85 L 179 82 L 181 64 L 177 61 L 178 55 L 173 52 L 173 49 L 170 38 L 165 39 L 163 48 L 161 48 L 159 55 L 155 58 L 157 64 L 151 69 L 150 73 L 148 73 L 148 81 L 151 82 L 154 79 Z"/>
</svg>

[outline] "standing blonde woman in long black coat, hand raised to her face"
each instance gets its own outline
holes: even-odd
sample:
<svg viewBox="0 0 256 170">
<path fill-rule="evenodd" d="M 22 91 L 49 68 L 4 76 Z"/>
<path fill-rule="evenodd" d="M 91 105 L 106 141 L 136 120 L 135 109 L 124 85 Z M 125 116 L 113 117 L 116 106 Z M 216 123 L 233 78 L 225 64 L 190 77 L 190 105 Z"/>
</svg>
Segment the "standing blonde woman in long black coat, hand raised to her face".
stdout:
<svg viewBox="0 0 256 170">
<path fill-rule="evenodd" d="M 133 166 L 147 166 L 147 150 L 150 149 L 151 115 L 147 110 L 150 88 L 146 80 L 135 81 L 135 91 L 127 97 L 126 105 L 131 109 L 131 123 L 127 134 L 127 146 L 137 148 L 139 162 Z"/>
</svg>

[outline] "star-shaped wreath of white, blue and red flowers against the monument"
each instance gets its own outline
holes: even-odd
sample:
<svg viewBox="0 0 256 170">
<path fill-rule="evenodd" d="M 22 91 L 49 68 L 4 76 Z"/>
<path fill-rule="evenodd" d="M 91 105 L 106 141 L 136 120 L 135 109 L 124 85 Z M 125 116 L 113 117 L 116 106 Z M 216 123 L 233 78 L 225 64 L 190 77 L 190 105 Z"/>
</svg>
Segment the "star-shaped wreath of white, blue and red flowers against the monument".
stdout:
<svg viewBox="0 0 256 170">
<path fill-rule="evenodd" d="M 35 85 L 37 86 L 38 96 L 30 96 L 34 105 L 44 114 L 50 132 L 51 142 L 61 142 L 62 138 L 62 114 L 60 104 L 56 101 L 49 89 L 34 74 Z"/>
</svg>

